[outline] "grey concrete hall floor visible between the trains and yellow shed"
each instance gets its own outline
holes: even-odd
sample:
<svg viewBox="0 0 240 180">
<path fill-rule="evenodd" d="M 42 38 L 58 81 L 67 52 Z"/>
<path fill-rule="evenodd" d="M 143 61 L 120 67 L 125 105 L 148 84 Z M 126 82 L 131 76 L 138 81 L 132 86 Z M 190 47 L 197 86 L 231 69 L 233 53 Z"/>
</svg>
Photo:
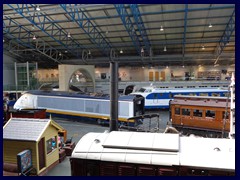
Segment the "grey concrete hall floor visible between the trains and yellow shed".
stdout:
<svg viewBox="0 0 240 180">
<path fill-rule="evenodd" d="M 169 120 L 169 111 L 155 110 L 155 111 L 148 111 L 145 114 L 153 114 L 153 113 L 154 114 L 158 113 L 160 115 L 159 120 L 157 118 L 152 118 L 151 124 L 150 124 L 150 119 L 145 119 L 143 124 L 140 125 L 140 128 L 147 131 L 149 129 L 153 131 L 155 127 L 158 126 L 158 122 L 159 122 L 158 132 L 164 132 L 167 121 Z M 67 130 L 68 138 L 73 137 L 72 140 L 76 144 L 81 139 L 81 137 L 87 134 L 88 132 L 104 132 L 105 130 L 109 130 L 108 126 L 100 126 L 94 123 L 89 124 L 89 123 L 79 122 L 76 120 L 74 121 L 70 119 L 60 119 L 55 117 L 53 117 L 52 119 Z M 51 169 L 45 176 L 71 176 L 69 157 L 66 157 L 63 162 L 59 163 L 57 166 Z"/>
</svg>

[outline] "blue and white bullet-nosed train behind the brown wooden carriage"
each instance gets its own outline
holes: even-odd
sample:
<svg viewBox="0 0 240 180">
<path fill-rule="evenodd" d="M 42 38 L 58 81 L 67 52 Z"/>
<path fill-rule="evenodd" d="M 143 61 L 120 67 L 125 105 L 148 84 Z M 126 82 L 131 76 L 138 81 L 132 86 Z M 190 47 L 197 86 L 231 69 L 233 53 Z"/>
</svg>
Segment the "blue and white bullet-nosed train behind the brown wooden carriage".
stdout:
<svg viewBox="0 0 240 180">
<path fill-rule="evenodd" d="M 175 95 L 191 96 L 220 96 L 228 95 L 227 89 L 217 88 L 187 88 L 187 89 L 161 89 L 154 86 L 142 87 L 133 95 L 141 95 L 145 98 L 145 109 L 169 108 L 169 102 Z"/>
</svg>

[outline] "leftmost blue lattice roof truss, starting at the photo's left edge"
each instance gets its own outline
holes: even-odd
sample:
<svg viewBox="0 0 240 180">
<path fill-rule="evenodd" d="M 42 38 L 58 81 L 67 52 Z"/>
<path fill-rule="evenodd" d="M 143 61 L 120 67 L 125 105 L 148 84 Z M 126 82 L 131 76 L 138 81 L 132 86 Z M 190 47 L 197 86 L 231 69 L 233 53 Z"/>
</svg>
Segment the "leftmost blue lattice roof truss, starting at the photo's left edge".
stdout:
<svg viewBox="0 0 240 180">
<path fill-rule="evenodd" d="M 33 41 L 33 33 L 29 31 L 24 26 L 18 24 L 11 18 L 5 17 L 3 20 L 3 32 L 11 39 L 14 39 L 17 43 L 21 44 L 24 47 L 35 49 L 37 52 L 47 56 L 48 58 L 54 60 L 55 62 L 61 63 L 59 60 L 63 59 L 63 56 L 59 55 L 60 52 L 50 46 L 49 44 L 42 41 L 38 38 L 35 44 Z M 18 25 L 14 28 L 11 27 L 11 24 Z M 13 35 L 12 32 L 18 32 L 18 34 Z M 27 37 L 27 38 L 26 38 Z M 34 42 L 34 43 L 33 43 Z"/>
</svg>

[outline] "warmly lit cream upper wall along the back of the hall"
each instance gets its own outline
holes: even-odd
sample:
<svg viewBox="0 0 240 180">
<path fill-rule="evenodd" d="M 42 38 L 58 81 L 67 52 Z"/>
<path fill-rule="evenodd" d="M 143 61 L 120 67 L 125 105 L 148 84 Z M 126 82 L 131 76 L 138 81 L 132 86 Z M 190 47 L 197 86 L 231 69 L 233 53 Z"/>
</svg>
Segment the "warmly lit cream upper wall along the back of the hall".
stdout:
<svg viewBox="0 0 240 180">
<path fill-rule="evenodd" d="M 234 66 L 185 66 L 184 68 L 182 66 L 169 66 L 168 68 L 161 66 L 161 67 L 119 67 L 119 77 L 121 78 L 121 81 L 149 81 L 149 72 L 153 72 L 155 75 L 155 72 L 159 72 L 159 76 L 161 76 L 161 72 L 165 72 L 165 81 L 171 81 L 171 73 L 175 77 L 181 77 L 182 80 L 184 80 L 185 72 L 189 72 L 191 74 L 191 77 L 198 78 L 198 72 L 204 72 L 204 71 L 222 71 L 223 69 L 226 69 L 228 72 L 235 72 Z M 95 68 L 95 79 L 96 81 L 109 81 L 110 80 L 110 68 L 109 67 L 96 67 Z M 106 79 L 101 79 L 101 73 L 106 74 Z M 38 77 L 39 80 L 44 81 L 58 81 L 58 69 L 48 69 L 48 70 L 38 70 Z M 53 76 L 53 77 L 52 77 Z M 226 76 L 229 76 L 229 74 L 222 74 L 221 73 L 221 79 L 224 80 Z M 155 80 L 155 77 L 154 77 Z"/>
</svg>

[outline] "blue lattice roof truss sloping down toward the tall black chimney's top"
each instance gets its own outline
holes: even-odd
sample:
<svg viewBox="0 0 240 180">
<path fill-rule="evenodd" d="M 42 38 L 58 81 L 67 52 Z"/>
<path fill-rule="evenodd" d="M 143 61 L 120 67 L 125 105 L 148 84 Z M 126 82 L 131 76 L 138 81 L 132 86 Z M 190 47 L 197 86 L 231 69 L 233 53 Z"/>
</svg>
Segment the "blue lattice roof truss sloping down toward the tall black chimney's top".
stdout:
<svg viewBox="0 0 240 180">
<path fill-rule="evenodd" d="M 86 16 L 86 14 L 80 9 L 77 8 L 77 4 L 60 4 L 64 11 L 71 17 L 73 22 L 76 22 L 80 28 L 90 37 L 90 40 L 93 44 L 102 51 L 104 55 L 109 57 L 110 50 L 112 46 L 110 43 L 102 36 L 102 34 Z M 83 21 L 83 19 L 85 19 Z"/>
</svg>

